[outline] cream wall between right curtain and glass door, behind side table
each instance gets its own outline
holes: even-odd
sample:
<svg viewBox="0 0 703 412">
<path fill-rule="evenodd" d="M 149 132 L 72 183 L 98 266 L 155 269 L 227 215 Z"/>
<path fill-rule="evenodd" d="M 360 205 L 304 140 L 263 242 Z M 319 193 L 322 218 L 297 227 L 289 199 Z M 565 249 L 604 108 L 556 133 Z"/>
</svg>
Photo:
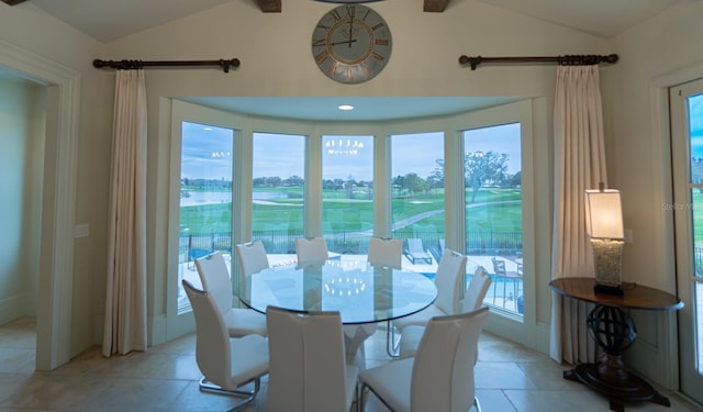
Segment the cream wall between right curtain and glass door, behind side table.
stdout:
<svg viewBox="0 0 703 412">
<path fill-rule="evenodd" d="M 703 2 L 682 2 L 613 40 L 621 60 L 603 85 L 610 186 L 622 190 L 625 226 L 625 280 L 676 289 L 667 87 L 703 77 Z M 674 162 L 677 162 L 674 159 Z M 684 276 L 684 275 L 682 275 Z M 690 302 L 687 302 L 687 304 Z M 638 343 L 632 365 L 652 380 L 677 387 L 676 315 L 633 313 Z"/>
</svg>

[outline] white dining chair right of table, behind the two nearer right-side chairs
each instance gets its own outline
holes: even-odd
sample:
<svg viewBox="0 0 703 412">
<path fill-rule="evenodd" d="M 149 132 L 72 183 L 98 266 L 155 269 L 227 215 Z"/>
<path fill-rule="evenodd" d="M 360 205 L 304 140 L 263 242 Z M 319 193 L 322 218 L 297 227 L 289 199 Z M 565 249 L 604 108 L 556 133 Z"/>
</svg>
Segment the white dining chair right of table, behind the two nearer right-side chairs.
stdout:
<svg viewBox="0 0 703 412">
<path fill-rule="evenodd" d="M 395 330 L 403 332 L 405 326 L 426 325 L 434 316 L 446 316 L 460 313 L 461 280 L 466 274 L 466 256 L 445 248 L 435 275 L 437 299 L 429 307 L 410 316 L 399 318 L 387 323 L 386 352 L 391 357 L 399 356 L 399 343 Z"/>
</svg>

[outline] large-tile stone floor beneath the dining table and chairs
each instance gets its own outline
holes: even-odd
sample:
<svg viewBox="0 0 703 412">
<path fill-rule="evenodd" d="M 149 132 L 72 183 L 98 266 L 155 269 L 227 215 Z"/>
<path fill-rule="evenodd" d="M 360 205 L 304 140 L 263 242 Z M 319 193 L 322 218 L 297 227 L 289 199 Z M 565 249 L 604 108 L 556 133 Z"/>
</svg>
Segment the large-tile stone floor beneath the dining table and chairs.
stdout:
<svg viewBox="0 0 703 412">
<path fill-rule="evenodd" d="M 48 372 L 34 371 L 34 320 L 0 326 L 0 412 L 5 411 L 224 411 L 237 400 L 198 390 L 194 335 L 146 353 L 103 358 L 94 347 Z M 388 361 L 386 334 L 366 342 L 367 366 Z M 476 367 L 484 412 L 607 411 L 607 400 L 561 378 L 566 366 L 548 356 L 483 333 Z M 628 403 L 626 411 L 700 411 L 676 393 L 671 408 Z M 266 381 L 245 411 L 266 411 Z M 386 408 L 367 396 L 366 411 Z"/>
</svg>

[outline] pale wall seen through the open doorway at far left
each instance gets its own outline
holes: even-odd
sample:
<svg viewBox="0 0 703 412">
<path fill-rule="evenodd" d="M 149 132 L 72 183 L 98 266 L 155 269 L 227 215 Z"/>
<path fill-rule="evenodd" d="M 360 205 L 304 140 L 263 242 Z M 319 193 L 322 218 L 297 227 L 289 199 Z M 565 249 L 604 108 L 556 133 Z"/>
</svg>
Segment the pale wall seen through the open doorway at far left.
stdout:
<svg viewBox="0 0 703 412">
<path fill-rule="evenodd" d="M 0 74 L 0 324 L 36 315 L 46 90 Z"/>
</svg>

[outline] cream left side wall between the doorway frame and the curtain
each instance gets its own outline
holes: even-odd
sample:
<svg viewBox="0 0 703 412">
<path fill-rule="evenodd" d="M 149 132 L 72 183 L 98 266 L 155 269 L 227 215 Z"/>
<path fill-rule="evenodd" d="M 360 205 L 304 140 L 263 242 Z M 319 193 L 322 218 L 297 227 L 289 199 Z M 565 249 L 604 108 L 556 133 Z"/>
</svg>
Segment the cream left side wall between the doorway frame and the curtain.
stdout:
<svg viewBox="0 0 703 412">
<path fill-rule="evenodd" d="M 70 249 L 75 256 L 66 264 L 72 272 L 63 274 L 65 280 L 72 281 L 72 304 L 70 310 L 70 353 L 78 354 L 90 345 L 100 342 L 102 336 L 101 300 L 104 301 L 105 272 L 105 231 L 107 204 L 110 168 L 112 89 L 105 88 L 109 77 L 105 73 L 92 67 L 92 59 L 102 57 L 104 45 L 67 26 L 65 23 L 46 15 L 31 2 L 15 7 L 0 3 L 0 42 L 11 45 L 4 47 L 7 55 L 2 60 L 12 60 L 12 48 L 21 49 L 22 58 L 19 66 L 27 66 L 41 59 L 51 62 L 52 67 L 37 67 L 35 71 L 51 73 L 55 66 L 79 74 L 77 81 L 80 89 L 80 114 L 77 133 L 71 137 L 78 141 L 78 164 L 76 182 L 76 216 L 78 223 L 90 224 L 90 236 L 76 240 Z M 27 55 L 38 56 L 27 62 Z M 12 66 L 12 65 L 11 65 Z M 57 75 L 63 76 L 63 75 Z M 54 86 L 54 85 L 47 85 Z M 68 93 L 69 90 L 64 90 Z M 58 100 L 60 100 L 59 98 Z M 62 130 L 72 130 L 67 125 L 66 111 L 70 108 L 62 107 L 58 124 Z M 71 132 L 72 133 L 72 132 Z M 60 133 L 49 131 L 49 135 Z M 47 147 L 51 146 L 46 142 Z M 62 142 L 65 144 L 66 141 Z M 67 153 L 68 147 L 60 147 Z M 53 154 L 56 156 L 55 154 Z M 69 158 L 66 156 L 64 158 Z M 47 182 L 44 181 L 44 185 Z M 56 223 L 56 222 L 53 222 Z M 66 224 L 65 222 L 62 222 Z M 72 225 L 74 222 L 68 222 Z M 43 234 L 45 235 L 45 234 Z M 68 246 L 62 246 L 65 248 Z M 49 256 L 48 261 L 66 261 L 64 256 L 51 256 L 52 250 L 43 250 Z M 34 256 L 36 258 L 36 255 Z M 40 285 L 49 288 L 46 285 Z M 59 286 L 60 287 L 60 286 Z M 57 308 L 54 308 L 56 310 Z M 51 312 L 51 310 L 49 310 Z M 56 316 L 54 311 L 54 316 Z M 48 321 L 47 321 L 48 322 Z M 38 345 L 38 347 L 43 347 Z M 38 358 L 37 354 L 37 358 Z"/>
</svg>

